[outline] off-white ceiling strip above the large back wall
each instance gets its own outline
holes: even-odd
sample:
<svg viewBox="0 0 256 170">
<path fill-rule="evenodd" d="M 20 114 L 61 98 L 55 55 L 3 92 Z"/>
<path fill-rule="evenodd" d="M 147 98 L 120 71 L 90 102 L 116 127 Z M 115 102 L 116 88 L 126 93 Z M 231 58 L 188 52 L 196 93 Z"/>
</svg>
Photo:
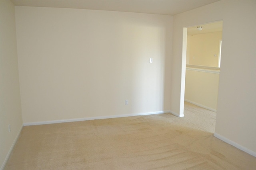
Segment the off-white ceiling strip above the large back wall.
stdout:
<svg viewBox="0 0 256 170">
<path fill-rule="evenodd" d="M 79 8 L 175 15 L 218 0 L 11 0 L 15 6 Z"/>
</svg>

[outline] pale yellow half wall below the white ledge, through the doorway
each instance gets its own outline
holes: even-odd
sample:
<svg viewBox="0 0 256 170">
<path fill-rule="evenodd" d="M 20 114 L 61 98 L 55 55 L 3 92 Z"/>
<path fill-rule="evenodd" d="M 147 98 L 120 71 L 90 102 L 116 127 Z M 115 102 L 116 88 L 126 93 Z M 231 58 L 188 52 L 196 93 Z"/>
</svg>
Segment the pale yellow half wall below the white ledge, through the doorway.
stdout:
<svg viewBox="0 0 256 170">
<path fill-rule="evenodd" d="M 185 101 L 216 111 L 218 86 L 219 74 L 186 70 Z"/>
</svg>

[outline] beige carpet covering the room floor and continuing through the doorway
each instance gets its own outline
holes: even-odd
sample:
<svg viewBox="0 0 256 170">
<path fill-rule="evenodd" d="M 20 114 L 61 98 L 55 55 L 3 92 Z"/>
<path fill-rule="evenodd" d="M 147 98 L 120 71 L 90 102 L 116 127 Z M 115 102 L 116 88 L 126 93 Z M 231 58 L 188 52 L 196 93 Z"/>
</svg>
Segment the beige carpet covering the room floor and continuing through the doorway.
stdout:
<svg viewBox="0 0 256 170">
<path fill-rule="evenodd" d="M 213 137 L 216 114 L 170 113 L 26 126 L 5 170 L 255 170 L 256 158 Z"/>
</svg>

